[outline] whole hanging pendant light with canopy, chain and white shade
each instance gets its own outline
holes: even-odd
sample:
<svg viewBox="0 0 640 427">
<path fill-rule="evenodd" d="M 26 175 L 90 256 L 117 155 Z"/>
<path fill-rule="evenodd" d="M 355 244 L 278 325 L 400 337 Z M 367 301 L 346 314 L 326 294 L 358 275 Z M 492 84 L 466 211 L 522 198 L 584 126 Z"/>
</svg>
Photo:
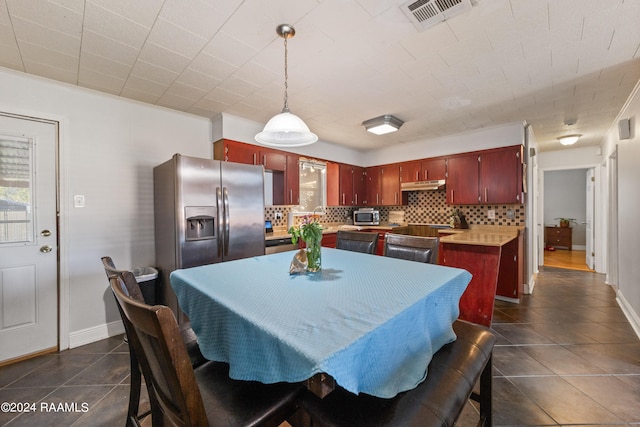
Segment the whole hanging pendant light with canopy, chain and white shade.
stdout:
<svg viewBox="0 0 640 427">
<path fill-rule="evenodd" d="M 272 147 L 301 147 L 313 144 L 318 140 L 318 136 L 309 130 L 300 117 L 289 112 L 287 40 L 295 36 L 296 30 L 292 25 L 280 24 L 276 27 L 276 32 L 284 39 L 284 107 L 282 113 L 273 116 L 265 125 L 264 130 L 255 138 L 260 144 Z"/>
</svg>

